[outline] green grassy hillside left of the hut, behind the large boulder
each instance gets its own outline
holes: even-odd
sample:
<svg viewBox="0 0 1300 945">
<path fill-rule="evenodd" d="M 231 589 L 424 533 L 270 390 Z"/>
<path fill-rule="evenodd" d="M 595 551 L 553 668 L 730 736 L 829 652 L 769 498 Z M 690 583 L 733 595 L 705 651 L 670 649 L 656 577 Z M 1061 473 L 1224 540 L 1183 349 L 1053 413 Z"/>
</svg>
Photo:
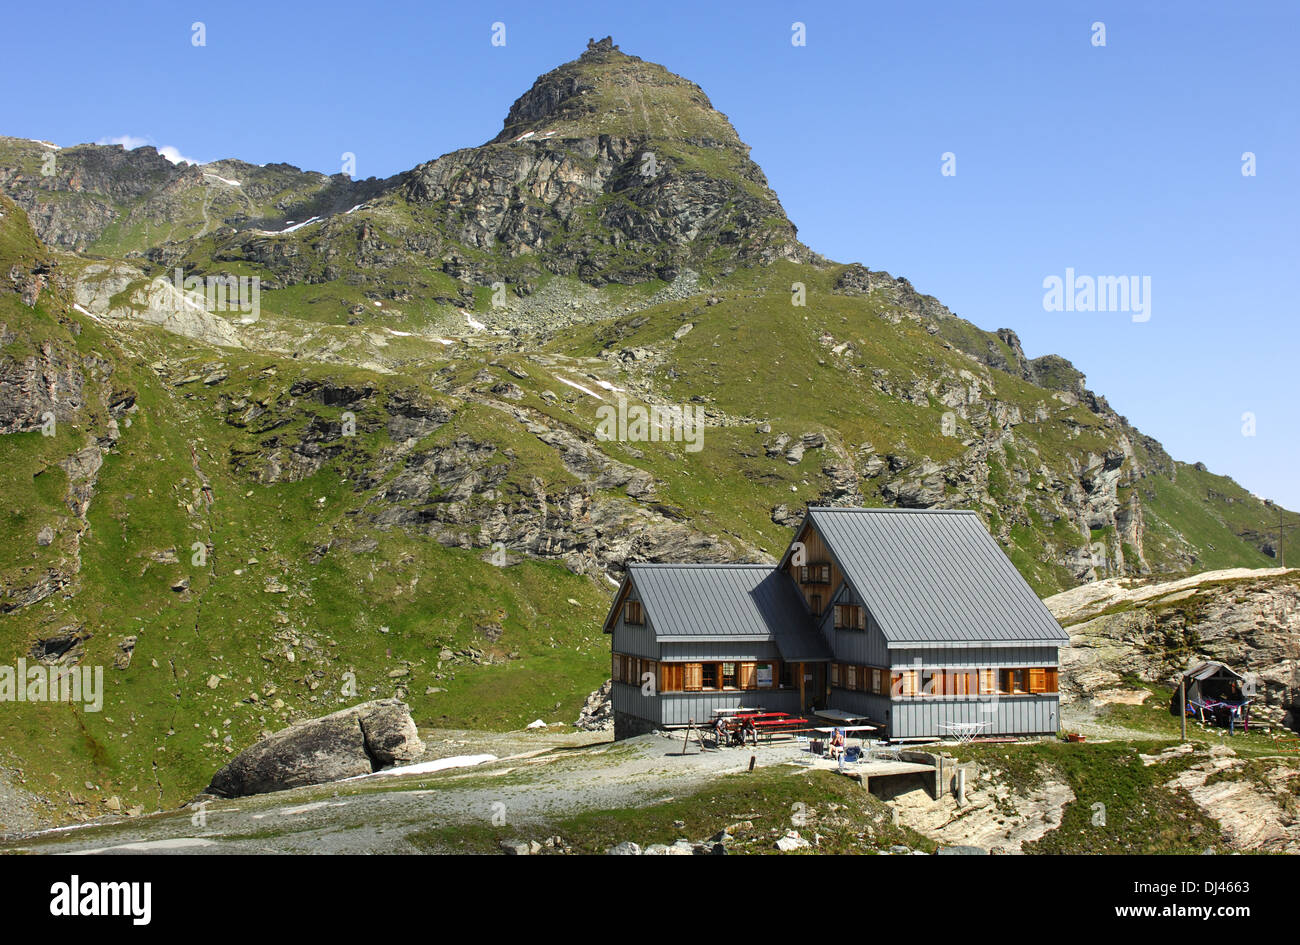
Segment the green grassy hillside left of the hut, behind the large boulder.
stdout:
<svg viewBox="0 0 1300 945">
<path fill-rule="evenodd" d="M 13 257 L 13 246 L 3 248 Z M 348 472 L 370 465 L 384 434 L 363 433 L 334 465 L 303 482 L 259 485 L 233 465 L 233 450 L 255 447 L 257 434 L 225 424 L 220 399 L 235 389 L 260 394 L 268 359 L 222 352 L 228 381 L 173 390 L 142 365 L 212 354 L 142 331 L 126 355 L 90 320 L 77 318 L 81 333 L 73 334 L 68 316 L 49 311 L 58 307 L 51 294 L 36 309 L 12 295 L 0 304 L 0 321 L 17 335 L 6 355 L 26 354 L 43 339 L 69 357 L 96 351 L 118 365 L 113 389 L 131 387 L 139 404 L 99 473 L 75 595 L 55 595 L 0 619 L 0 662 L 13 664 L 38 637 L 84 627 L 94 636 L 82 666 L 105 667 L 99 714 L 34 703 L 6 705 L 0 714 L 3 751 L 29 789 L 70 806 L 88 801 L 92 814 L 110 794 L 152 809 L 191 796 L 231 750 L 264 731 L 360 698 L 393 695 L 398 686 L 421 723 L 512 728 L 538 715 L 571 721 L 607 675 L 599 634 L 607 602 L 590 581 L 541 562 L 493 567 L 419 536 L 373 532 L 364 516 L 350 515 L 367 495 L 356 493 Z M 295 377 L 312 373 L 281 367 Z M 339 380 L 352 380 L 343 373 Z M 338 412 L 300 406 L 294 422 L 274 434 L 291 437 L 312 416 Z M 25 582 L 32 555 L 72 552 L 62 534 L 49 549 L 35 549 L 34 536 L 47 523 L 66 530 L 66 484 L 52 464 L 81 447 L 87 433 L 101 433 L 104 422 L 92 399 L 77 424 L 60 424 L 56 438 L 0 438 L 0 491 L 13 538 L 0 560 L 6 584 Z M 462 425 L 484 429 L 488 421 L 458 417 L 433 437 Z M 520 439 L 526 458 L 521 434 L 493 430 L 498 443 L 508 443 L 507 434 Z M 335 546 L 312 563 L 332 538 L 363 537 L 378 547 L 354 554 Z M 194 542 L 211 545 L 203 567 L 191 563 Z M 178 563 L 152 558 L 166 550 Z M 172 590 L 182 578 L 188 589 Z M 268 581 L 286 590 L 270 593 Z M 486 625 L 502 628 L 499 640 L 481 636 Z M 129 636 L 136 637 L 130 667 L 114 668 Z M 491 663 L 439 666 L 445 646 L 474 646 Z M 355 673 L 355 698 L 341 695 L 344 672 Z M 446 692 L 426 694 L 429 688 Z M 84 788 L 87 781 L 95 790 Z"/>
</svg>

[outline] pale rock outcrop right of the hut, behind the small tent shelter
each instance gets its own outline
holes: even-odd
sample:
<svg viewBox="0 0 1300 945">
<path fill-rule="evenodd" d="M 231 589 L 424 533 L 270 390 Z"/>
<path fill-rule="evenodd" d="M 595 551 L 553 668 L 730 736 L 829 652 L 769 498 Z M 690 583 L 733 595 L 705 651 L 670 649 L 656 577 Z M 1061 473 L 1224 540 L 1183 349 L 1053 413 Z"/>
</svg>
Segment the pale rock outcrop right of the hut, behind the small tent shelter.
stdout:
<svg viewBox="0 0 1300 945">
<path fill-rule="evenodd" d="M 1300 571 L 1239 568 L 1148 585 L 1112 578 L 1046 604 L 1070 632 L 1070 647 L 1061 651 L 1063 701 L 1096 699 L 1130 673 L 1169 684 L 1190 662 L 1212 659 L 1256 677 L 1253 719 L 1287 724 L 1288 712 L 1294 719 Z"/>
</svg>

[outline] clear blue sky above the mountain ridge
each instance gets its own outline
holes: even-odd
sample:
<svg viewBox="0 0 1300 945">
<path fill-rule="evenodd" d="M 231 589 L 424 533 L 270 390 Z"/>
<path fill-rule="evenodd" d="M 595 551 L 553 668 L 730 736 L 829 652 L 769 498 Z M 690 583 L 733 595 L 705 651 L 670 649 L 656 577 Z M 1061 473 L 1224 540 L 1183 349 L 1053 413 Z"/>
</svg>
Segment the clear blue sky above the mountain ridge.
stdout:
<svg viewBox="0 0 1300 945">
<path fill-rule="evenodd" d="M 1300 4 L 86 3 L 5 26 L 3 134 L 326 173 L 352 152 L 360 177 L 488 140 L 612 34 L 705 88 L 814 250 L 1013 328 L 1175 458 L 1300 510 Z M 1044 311 L 1067 268 L 1149 277 L 1149 320 Z"/>
</svg>

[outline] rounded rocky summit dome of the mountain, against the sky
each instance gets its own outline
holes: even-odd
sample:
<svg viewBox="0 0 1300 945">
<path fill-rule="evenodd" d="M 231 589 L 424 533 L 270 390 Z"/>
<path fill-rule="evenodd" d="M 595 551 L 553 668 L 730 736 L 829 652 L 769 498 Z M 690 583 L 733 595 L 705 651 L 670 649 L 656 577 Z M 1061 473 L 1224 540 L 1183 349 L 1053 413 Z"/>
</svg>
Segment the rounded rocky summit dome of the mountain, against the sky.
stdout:
<svg viewBox="0 0 1300 945">
<path fill-rule="evenodd" d="M 633 97 L 655 104 L 616 104 Z M 464 247 L 536 253 L 592 285 L 672 281 L 719 244 L 740 263 L 811 257 L 703 91 L 604 40 L 537 79 L 497 138 L 416 168 L 403 192 Z M 445 269 L 493 278 L 468 255 Z"/>
</svg>

